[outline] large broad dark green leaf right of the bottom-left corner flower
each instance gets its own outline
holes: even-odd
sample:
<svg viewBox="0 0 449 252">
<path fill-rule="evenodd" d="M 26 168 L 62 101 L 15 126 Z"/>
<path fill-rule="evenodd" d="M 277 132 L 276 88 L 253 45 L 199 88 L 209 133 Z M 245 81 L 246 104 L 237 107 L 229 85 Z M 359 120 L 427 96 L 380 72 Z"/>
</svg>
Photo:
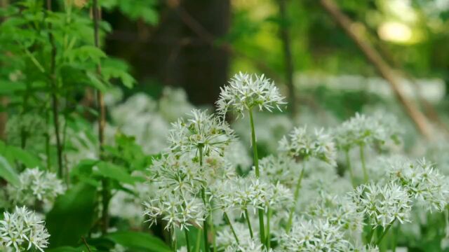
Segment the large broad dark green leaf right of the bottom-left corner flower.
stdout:
<svg viewBox="0 0 449 252">
<path fill-rule="evenodd" d="M 87 235 L 95 221 L 97 190 L 79 183 L 58 197 L 46 216 L 50 246 L 76 246 L 81 236 Z"/>
</svg>

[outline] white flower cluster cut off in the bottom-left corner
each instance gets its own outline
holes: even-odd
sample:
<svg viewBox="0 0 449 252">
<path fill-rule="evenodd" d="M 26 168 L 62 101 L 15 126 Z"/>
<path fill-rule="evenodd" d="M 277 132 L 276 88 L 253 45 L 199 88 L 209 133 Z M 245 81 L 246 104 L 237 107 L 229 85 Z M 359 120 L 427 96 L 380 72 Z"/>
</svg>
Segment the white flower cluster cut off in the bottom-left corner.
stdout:
<svg viewBox="0 0 449 252">
<path fill-rule="evenodd" d="M 15 207 L 13 214 L 4 212 L 0 221 L 0 248 L 14 248 L 15 251 L 39 249 L 48 246 L 48 232 L 41 219 L 26 207 Z"/>
</svg>

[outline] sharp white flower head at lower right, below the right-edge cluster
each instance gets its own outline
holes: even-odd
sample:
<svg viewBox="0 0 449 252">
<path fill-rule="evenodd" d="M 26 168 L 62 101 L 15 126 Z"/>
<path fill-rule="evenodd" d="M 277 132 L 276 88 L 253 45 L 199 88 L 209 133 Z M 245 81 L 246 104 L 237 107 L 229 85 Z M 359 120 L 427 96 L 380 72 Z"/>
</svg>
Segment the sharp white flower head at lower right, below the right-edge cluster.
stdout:
<svg viewBox="0 0 449 252">
<path fill-rule="evenodd" d="M 395 220 L 410 222 L 410 196 L 396 183 L 361 185 L 354 189 L 351 196 L 357 210 L 369 217 L 372 228 L 387 228 Z"/>
</svg>

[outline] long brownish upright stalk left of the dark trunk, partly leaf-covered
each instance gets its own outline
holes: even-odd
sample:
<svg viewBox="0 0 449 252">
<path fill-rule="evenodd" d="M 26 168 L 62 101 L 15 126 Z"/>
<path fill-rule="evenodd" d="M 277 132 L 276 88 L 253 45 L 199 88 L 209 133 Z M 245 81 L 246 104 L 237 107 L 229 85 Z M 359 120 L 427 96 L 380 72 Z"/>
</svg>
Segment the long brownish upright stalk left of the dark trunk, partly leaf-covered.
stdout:
<svg viewBox="0 0 449 252">
<path fill-rule="evenodd" d="M 93 37 L 95 47 L 100 48 L 100 20 L 101 8 L 98 6 L 98 0 L 93 0 Z M 101 76 L 101 64 L 97 64 L 97 74 Z M 97 90 L 97 106 L 98 106 L 98 142 L 100 144 L 100 160 L 103 159 L 103 145 L 105 144 L 105 125 L 106 125 L 106 108 L 105 99 L 100 90 Z M 102 179 L 102 234 L 107 233 L 109 228 L 109 200 L 111 195 L 109 193 L 109 181 L 106 178 Z"/>
</svg>

